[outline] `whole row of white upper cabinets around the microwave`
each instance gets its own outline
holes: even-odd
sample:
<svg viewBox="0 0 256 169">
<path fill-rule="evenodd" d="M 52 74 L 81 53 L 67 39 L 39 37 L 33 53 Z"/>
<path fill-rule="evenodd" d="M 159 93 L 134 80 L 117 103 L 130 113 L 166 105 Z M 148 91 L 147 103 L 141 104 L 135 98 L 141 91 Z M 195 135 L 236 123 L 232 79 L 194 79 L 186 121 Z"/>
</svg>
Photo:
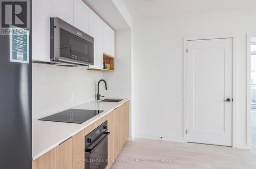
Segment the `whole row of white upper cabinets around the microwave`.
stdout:
<svg viewBox="0 0 256 169">
<path fill-rule="evenodd" d="M 91 68 L 103 68 L 103 53 L 115 56 L 115 32 L 82 0 L 45 0 L 32 3 L 32 60 L 50 62 L 50 17 L 59 17 L 94 38 Z"/>
</svg>

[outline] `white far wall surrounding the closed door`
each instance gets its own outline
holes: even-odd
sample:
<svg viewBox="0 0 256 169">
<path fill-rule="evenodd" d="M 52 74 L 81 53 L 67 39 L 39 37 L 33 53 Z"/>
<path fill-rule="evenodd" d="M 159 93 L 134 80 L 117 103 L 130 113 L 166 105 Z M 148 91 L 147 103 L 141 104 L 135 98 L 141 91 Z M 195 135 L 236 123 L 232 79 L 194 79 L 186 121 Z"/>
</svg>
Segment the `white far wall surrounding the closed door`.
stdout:
<svg viewBox="0 0 256 169">
<path fill-rule="evenodd" d="M 237 145 L 246 147 L 246 33 L 256 9 L 160 17 L 134 22 L 135 136 L 182 141 L 183 37 L 238 35 Z"/>
</svg>

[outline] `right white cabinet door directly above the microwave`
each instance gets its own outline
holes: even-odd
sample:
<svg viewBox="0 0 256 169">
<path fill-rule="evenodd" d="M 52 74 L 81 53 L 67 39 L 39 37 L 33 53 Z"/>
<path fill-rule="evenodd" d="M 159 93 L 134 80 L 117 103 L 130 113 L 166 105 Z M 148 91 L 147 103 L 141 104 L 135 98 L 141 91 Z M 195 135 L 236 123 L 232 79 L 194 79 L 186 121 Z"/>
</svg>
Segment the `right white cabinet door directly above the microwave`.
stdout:
<svg viewBox="0 0 256 169">
<path fill-rule="evenodd" d="M 74 0 L 74 26 L 89 33 L 89 7 L 82 0 Z"/>
</svg>

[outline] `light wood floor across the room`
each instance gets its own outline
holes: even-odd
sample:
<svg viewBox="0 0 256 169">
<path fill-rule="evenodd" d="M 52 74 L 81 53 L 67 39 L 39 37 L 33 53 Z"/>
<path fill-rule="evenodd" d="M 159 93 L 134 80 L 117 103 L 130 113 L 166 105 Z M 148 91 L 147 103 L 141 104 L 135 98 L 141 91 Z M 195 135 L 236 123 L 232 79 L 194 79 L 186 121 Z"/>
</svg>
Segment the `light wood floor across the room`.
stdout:
<svg viewBox="0 0 256 169">
<path fill-rule="evenodd" d="M 117 159 L 178 159 L 179 162 L 115 162 L 112 169 L 133 168 L 256 168 L 256 149 L 176 143 L 152 139 L 128 140 Z M 120 160 L 119 160 L 120 161 Z"/>
</svg>

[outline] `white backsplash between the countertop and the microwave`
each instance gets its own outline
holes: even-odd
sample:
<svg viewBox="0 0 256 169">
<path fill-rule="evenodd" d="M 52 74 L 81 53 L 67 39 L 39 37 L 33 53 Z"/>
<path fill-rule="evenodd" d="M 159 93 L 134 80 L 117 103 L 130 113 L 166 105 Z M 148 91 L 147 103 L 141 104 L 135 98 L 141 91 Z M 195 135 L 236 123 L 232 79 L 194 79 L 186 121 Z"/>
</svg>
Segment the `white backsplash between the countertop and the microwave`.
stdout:
<svg viewBox="0 0 256 169">
<path fill-rule="evenodd" d="M 32 64 L 33 119 L 95 100 L 102 72 L 87 67 L 62 67 Z M 102 84 L 101 84 L 102 91 Z M 73 92 L 73 101 L 70 101 Z"/>
</svg>

